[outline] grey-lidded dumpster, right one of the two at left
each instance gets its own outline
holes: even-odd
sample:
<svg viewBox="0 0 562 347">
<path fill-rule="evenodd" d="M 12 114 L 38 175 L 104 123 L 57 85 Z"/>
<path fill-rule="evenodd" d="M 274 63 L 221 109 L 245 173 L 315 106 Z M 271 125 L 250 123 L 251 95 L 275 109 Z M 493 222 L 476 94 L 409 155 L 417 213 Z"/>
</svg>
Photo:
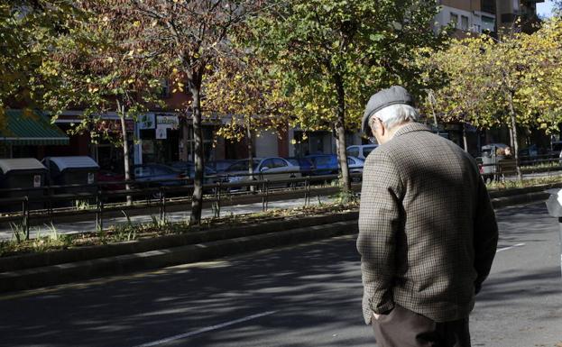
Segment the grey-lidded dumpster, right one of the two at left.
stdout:
<svg viewBox="0 0 562 347">
<path fill-rule="evenodd" d="M 57 187 L 56 194 L 96 194 L 97 193 L 97 162 L 87 156 L 47 157 L 43 164 L 49 169 L 49 184 Z"/>
</svg>

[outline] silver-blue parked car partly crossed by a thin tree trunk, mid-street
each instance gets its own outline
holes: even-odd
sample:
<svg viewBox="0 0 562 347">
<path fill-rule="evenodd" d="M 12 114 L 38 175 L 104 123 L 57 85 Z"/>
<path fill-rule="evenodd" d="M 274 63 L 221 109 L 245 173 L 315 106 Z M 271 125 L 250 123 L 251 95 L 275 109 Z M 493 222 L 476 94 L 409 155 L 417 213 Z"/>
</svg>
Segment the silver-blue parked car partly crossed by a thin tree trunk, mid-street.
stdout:
<svg viewBox="0 0 562 347">
<path fill-rule="evenodd" d="M 286 180 L 289 178 L 299 178 L 301 177 L 299 167 L 291 164 L 288 160 L 284 160 L 279 157 L 267 157 L 267 158 L 253 158 L 252 166 L 254 176 L 253 178 L 248 173 L 250 160 L 236 160 L 228 169 L 226 169 L 226 175 L 228 182 L 230 183 L 244 183 L 251 182 L 258 178 L 268 179 L 272 181 L 274 186 L 275 181 Z M 281 183 L 283 187 L 290 187 L 289 183 Z M 238 189 L 232 189 L 238 190 Z M 248 187 L 240 187 L 239 190 L 248 190 Z"/>
</svg>

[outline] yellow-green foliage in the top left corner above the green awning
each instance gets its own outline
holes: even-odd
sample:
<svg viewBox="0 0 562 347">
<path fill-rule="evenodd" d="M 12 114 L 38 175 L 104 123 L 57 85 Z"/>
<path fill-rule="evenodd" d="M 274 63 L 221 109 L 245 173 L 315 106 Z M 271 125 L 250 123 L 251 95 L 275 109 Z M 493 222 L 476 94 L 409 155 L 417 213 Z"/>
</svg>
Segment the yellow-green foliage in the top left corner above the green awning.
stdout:
<svg viewBox="0 0 562 347">
<path fill-rule="evenodd" d="M 73 1 L 22 0 L 0 4 L 0 128 L 5 108 L 40 107 L 41 96 L 59 86 L 44 74 L 45 57 L 83 16 Z"/>
</svg>

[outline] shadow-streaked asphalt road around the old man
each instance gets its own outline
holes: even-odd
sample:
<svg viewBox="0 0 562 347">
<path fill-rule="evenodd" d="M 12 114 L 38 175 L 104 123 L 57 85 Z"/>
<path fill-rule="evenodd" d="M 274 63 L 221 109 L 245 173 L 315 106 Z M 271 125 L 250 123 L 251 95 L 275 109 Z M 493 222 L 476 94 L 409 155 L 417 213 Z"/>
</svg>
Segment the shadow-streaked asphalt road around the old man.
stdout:
<svg viewBox="0 0 562 347">
<path fill-rule="evenodd" d="M 501 242 L 473 346 L 562 343 L 558 225 L 498 211 Z M 374 346 L 355 237 L 0 297 L 0 346 Z M 562 345 L 562 344 L 561 344 Z"/>
</svg>

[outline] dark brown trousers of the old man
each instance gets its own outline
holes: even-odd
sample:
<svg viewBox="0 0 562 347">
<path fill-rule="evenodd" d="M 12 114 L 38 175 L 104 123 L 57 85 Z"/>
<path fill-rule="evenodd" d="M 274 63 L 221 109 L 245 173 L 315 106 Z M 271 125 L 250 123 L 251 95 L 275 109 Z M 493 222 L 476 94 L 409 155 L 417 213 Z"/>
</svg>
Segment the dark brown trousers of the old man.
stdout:
<svg viewBox="0 0 562 347">
<path fill-rule="evenodd" d="M 468 317 L 438 323 L 397 305 L 371 324 L 379 347 L 470 347 Z"/>
</svg>

